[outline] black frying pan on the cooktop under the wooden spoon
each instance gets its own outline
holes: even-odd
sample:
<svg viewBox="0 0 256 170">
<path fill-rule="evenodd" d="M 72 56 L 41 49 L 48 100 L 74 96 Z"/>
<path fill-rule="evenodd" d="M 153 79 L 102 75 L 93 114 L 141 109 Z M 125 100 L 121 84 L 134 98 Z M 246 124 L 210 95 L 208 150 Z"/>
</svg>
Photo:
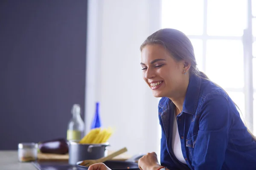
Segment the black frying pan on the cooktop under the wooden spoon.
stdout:
<svg viewBox="0 0 256 170">
<path fill-rule="evenodd" d="M 105 161 L 104 164 L 107 165 L 111 170 L 140 170 L 138 163 L 135 162 L 140 159 L 143 155 L 133 156 L 131 159 L 126 161 Z M 76 163 L 77 170 L 87 170 L 88 167 L 79 165 L 82 161 Z"/>
</svg>

